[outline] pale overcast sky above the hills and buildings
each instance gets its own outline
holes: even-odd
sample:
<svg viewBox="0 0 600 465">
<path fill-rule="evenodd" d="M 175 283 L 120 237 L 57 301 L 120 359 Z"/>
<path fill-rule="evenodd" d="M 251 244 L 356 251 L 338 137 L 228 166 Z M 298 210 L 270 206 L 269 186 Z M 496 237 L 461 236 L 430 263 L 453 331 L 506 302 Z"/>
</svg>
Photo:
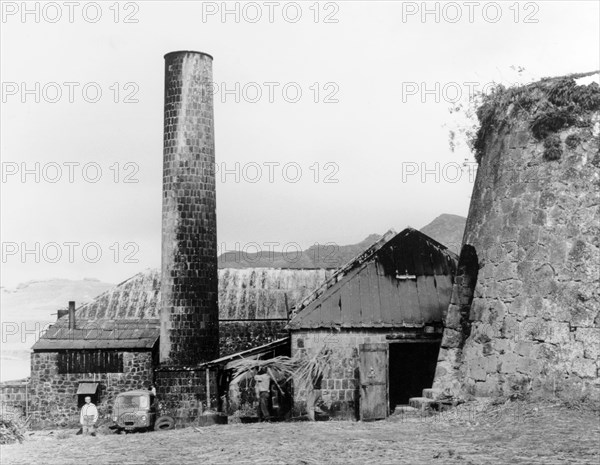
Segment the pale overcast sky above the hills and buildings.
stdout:
<svg viewBox="0 0 600 465">
<path fill-rule="evenodd" d="M 598 69 L 598 4 L 3 2 L 2 285 L 160 265 L 167 52 L 214 57 L 220 248 L 347 244 L 466 216 L 457 91 Z"/>
</svg>

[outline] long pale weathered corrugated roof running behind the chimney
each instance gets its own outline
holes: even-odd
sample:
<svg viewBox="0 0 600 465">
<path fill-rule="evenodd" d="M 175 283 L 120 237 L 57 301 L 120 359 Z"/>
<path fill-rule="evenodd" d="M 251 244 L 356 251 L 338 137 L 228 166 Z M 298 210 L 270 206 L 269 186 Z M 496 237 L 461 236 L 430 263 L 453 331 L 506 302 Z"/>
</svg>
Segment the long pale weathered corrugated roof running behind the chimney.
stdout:
<svg viewBox="0 0 600 465">
<path fill-rule="evenodd" d="M 286 319 L 289 310 L 333 270 L 221 269 L 219 319 Z M 75 311 L 76 329 L 68 315 L 60 318 L 34 344 L 33 350 L 150 349 L 159 336 L 160 274 L 146 270 L 99 295 Z"/>
</svg>

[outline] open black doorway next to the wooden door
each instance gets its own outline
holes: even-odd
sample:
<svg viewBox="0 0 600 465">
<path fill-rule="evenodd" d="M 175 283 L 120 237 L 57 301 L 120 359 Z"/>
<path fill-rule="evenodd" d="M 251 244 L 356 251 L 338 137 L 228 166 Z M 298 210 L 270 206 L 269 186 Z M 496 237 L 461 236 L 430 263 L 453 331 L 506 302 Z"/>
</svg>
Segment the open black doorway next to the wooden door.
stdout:
<svg viewBox="0 0 600 465">
<path fill-rule="evenodd" d="M 433 384 L 440 342 L 397 342 L 390 344 L 389 393 L 390 412 L 397 405 L 408 404 L 411 397 L 421 397 Z"/>
</svg>

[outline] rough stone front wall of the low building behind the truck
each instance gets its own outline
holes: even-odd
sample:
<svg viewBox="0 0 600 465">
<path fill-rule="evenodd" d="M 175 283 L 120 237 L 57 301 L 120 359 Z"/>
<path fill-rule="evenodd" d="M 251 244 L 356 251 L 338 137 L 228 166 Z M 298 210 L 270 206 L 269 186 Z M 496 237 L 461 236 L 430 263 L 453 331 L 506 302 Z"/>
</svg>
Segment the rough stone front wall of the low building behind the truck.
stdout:
<svg viewBox="0 0 600 465">
<path fill-rule="evenodd" d="M 110 421 L 117 394 L 144 389 L 153 379 L 152 352 L 123 352 L 123 373 L 58 372 L 58 352 L 33 352 L 29 384 L 29 414 L 35 426 L 75 426 L 79 423 L 80 381 L 99 383 L 99 422 Z"/>
</svg>

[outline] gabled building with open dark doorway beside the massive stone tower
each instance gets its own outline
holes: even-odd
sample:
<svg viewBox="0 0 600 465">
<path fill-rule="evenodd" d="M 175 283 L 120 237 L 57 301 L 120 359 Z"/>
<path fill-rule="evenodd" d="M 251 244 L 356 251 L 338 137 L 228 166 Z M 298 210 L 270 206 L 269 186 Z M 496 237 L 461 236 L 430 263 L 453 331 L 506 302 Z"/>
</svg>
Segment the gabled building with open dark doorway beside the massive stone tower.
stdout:
<svg viewBox="0 0 600 465">
<path fill-rule="evenodd" d="M 298 305 L 292 356 L 331 352 L 315 386 L 330 417 L 385 418 L 431 386 L 456 261 L 419 231 L 390 231 Z"/>
</svg>

